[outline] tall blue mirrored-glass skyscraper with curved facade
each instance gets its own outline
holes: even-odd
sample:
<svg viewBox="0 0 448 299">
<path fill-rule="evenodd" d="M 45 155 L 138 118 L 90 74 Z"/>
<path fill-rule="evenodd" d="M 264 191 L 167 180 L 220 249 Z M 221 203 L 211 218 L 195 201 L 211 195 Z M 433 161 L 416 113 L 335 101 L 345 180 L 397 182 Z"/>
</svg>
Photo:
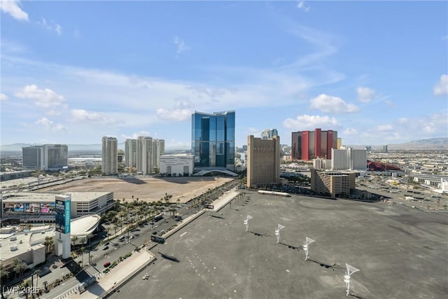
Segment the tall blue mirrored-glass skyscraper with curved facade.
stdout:
<svg viewBox="0 0 448 299">
<path fill-rule="evenodd" d="M 195 168 L 225 168 L 235 171 L 235 111 L 191 116 L 191 151 Z"/>
</svg>

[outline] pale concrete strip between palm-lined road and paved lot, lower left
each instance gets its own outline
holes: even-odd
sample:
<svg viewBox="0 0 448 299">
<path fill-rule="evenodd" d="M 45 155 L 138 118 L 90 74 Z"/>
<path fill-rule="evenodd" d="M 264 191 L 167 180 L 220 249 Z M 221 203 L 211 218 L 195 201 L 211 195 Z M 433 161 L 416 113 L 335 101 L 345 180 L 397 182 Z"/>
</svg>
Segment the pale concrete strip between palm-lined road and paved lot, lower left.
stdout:
<svg viewBox="0 0 448 299">
<path fill-rule="evenodd" d="M 132 254 L 132 256 L 130 256 L 129 258 L 123 260 L 107 274 L 99 274 L 97 276 L 97 282 L 90 286 L 87 286 L 87 290 L 85 292 L 69 292 L 66 295 L 62 295 L 59 297 L 74 299 L 104 298 L 105 295 L 111 293 L 121 284 L 124 284 L 128 279 L 136 274 L 139 274 L 139 271 L 146 267 L 146 265 L 151 263 L 153 259 L 154 256 L 151 253 L 142 249 L 141 251 Z"/>
</svg>

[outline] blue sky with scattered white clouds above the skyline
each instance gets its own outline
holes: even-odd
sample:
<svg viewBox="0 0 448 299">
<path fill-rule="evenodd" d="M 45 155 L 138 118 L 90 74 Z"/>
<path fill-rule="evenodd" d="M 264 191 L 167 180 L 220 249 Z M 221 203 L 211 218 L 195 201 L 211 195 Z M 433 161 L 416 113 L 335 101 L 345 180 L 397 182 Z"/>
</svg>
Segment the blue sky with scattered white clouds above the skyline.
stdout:
<svg viewBox="0 0 448 299">
<path fill-rule="evenodd" d="M 1 145 L 151 136 L 235 110 L 236 144 L 276 128 L 343 144 L 447 137 L 447 1 L 10 1 Z"/>
</svg>

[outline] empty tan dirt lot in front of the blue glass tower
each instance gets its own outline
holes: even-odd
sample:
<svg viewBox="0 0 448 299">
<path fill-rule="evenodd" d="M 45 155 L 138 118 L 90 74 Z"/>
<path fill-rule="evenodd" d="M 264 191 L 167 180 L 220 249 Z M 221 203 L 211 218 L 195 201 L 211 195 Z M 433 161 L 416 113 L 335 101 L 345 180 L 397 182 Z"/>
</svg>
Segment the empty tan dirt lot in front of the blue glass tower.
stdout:
<svg viewBox="0 0 448 299">
<path fill-rule="evenodd" d="M 232 181 L 232 178 L 224 177 L 177 177 L 177 178 L 153 178 L 153 177 L 130 177 L 130 178 L 90 178 L 71 181 L 59 186 L 40 189 L 45 191 L 113 191 L 116 199 L 132 198 L 148 202 L 160 200 L 165 193 L 173 195 L 171 202 L 186 202 L 200 195 L 209 188 L 213 189 L 224 183 Z M 134 196 L 134 197 L 132 197 Z"/>
</svg>

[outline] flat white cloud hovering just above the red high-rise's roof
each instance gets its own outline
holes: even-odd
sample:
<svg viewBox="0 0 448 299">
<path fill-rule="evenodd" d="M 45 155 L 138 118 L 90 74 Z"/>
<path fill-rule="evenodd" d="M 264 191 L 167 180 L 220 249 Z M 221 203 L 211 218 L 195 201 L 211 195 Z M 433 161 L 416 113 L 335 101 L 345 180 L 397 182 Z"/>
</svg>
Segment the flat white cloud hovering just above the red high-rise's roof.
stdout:
<svg viewBox="0 0 448 299">
<path fill-rule="evenodd" d="M 297 118 L 286 118 L 283 120 L 283 127 L 291 130 L 314 130 L 316 127 L 331 128 L 333 130 L 336 127 L 340 127 L 340 123 L 336 118 L 330 118 L 328 116 L 308 116 L 302 115 Z M 325 129 L 323 129 L 325 130 Z"/>
</svg>

